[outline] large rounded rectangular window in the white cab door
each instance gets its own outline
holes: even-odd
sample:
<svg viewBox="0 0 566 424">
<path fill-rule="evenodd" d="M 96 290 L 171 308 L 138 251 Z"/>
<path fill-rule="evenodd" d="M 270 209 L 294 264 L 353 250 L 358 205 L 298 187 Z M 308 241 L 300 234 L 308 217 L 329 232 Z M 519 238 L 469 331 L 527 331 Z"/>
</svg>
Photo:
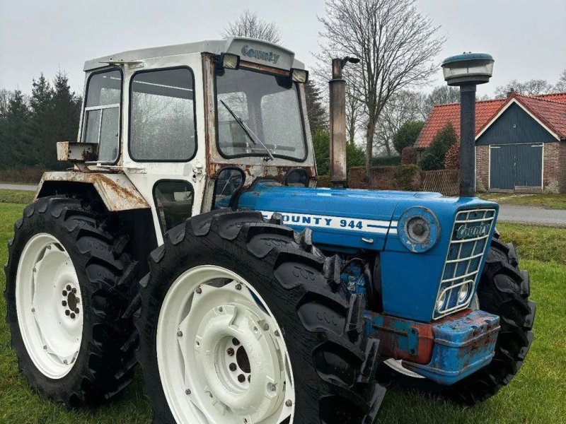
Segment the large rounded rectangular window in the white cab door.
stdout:
<svg viewBox="0 0 566 424">
<path fill-rule="evenodd" d="M 189 69 L 141 71 L 130 85 L 129 153 L 139 161 L 185 162 L 196 152 Z"/>
</svg>

